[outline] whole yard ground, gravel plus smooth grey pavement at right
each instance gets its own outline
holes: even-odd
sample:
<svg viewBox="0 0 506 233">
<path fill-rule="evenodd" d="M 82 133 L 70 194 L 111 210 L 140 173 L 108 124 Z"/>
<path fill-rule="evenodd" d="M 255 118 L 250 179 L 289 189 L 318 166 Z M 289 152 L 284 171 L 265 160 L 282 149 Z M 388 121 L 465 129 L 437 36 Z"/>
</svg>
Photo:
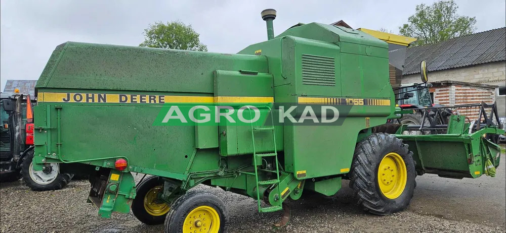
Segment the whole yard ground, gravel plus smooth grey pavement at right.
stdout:
<svg viewBox="0 0 506 233">
<path fill-rule="evenodd" d="M 417 177 L 408 209 L 390 216 L 363 212 L 344 181 L 334 196 L 305 193 L 289 202 L 291 220 L 278 229 L 272 224 L 281 213 L 258 213 L 254 199 L 217 188 L 195 189 L 209 190 L 225 201 L 229 232 L 506 232 L 505 170 L 503 159 L 496 178 Z M 145 225 L 132 213 L 98 217 L 97 208 L 86 202 L 88 192 L 87 181 L 48 192 L 33 192 L 22 181 L 0 184 L 0 231 L 163 232 L 161 225 Z"/>
</svg>

